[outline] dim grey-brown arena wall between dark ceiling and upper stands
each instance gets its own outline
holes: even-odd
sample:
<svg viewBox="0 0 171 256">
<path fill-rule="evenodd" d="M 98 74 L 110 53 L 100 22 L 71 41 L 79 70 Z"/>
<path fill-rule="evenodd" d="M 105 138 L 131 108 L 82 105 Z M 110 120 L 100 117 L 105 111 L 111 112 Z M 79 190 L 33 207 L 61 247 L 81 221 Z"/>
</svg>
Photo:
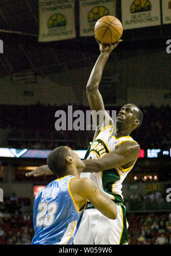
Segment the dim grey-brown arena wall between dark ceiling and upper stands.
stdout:
<svg viewBox="0 0 171 256">
<path fill-rule="evenodd" d="M 171 98 L 167 97 L 171 81 L 169 54 L 165 51 L 145 53 L 143 50 L 112 54 L 104 74 L 113 72 L 116 80 L 113 85 L 113 93 L 117 95 L 114 106 L 127 102 L 141 106 L 171 104 Z M 45 105 L 88 106 L 86 84 L 95 58 L 89 63 L 82 69 L 51 74 L 46 78 L 36 77 L 36 83 L 15 84 L 12 77 L 1 77 L 0 104 L 30 105 L 40 102 Z M 24 96 L 25 91 L 31 91 L 32 96 Z M 108 100 L 104 102 L 107 104 Z"/>
</svg>

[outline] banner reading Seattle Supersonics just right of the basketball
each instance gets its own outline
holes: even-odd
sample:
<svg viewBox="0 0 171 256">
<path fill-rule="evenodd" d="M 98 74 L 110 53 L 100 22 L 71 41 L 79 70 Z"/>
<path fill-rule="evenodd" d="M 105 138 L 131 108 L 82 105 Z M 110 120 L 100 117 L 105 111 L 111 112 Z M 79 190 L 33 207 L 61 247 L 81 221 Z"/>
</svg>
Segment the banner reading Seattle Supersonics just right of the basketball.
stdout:
<svg viewBox="0 0 171 256">
<path fill-rule="evenodd" d="M 122 0 L 123 29 L 161 25 L 160 0 Z"/>
</svg>

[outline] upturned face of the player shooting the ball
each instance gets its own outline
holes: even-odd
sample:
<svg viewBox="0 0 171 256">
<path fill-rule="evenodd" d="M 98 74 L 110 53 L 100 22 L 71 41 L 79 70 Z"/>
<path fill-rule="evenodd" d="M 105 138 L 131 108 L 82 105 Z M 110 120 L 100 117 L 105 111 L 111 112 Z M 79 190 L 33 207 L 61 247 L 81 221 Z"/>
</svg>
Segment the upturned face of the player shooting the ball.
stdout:
<svg viewBox="0 0 171 256">
<path fill-rule="evenodd" d="M 132 104 L 124 105 L 116 118 L 116 124 L 122 123 L 125 127 L 132 126 L 136 119 L 138 109 Z"/>
</svg>

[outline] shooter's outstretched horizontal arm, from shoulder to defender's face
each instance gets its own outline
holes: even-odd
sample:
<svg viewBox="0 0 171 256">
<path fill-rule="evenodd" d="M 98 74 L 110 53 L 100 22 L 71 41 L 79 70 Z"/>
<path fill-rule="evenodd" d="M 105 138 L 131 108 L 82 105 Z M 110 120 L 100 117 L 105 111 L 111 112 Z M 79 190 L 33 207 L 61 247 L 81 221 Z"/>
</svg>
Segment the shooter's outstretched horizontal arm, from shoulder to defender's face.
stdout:
<svg viewBox="0 0 171 256">
<path fill-rule="evenodd" d="M 137 160 L 140 154 L 140 146 L 137 143 L 127 141 L 117 147 L 115 151 L 104 155 L 100 159 L 84 160 L 86 168 L 84 173 L 99 172 L 112 169 L 115 166 L 123 166 Z"/>
</svg>

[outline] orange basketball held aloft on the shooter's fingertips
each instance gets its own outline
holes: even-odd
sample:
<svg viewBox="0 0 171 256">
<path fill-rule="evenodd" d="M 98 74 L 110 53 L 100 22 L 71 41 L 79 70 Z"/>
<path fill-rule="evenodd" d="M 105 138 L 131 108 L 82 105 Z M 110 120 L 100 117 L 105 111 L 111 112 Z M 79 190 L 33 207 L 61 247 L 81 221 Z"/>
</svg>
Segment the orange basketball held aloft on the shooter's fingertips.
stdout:
<svg viewBox="0 0 171 256">
<path fill-rule="evenodd" d="M 114 16 L 103 16 L 95 24 L 95 36 L 104 44 L 116 43 L 123 34 L 123 25 Z"/>
</svg>

